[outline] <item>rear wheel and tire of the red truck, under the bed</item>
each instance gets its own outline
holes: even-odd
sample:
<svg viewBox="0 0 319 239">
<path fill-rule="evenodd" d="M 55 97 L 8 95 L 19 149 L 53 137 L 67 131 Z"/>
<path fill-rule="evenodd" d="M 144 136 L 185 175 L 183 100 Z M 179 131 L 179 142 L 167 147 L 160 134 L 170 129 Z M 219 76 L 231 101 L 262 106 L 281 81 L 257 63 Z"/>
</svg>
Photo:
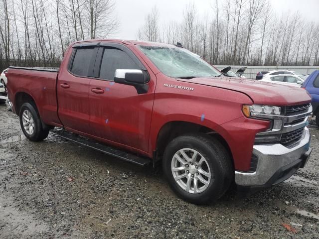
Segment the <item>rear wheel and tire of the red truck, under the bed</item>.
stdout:
<svg viewBox="0 0 319 239">
<path fill-rule="evenodd" d="M 19 117 L 23 134 L 29 140 L 41 141 L 48 136 L 49 129 L 43 129 L 40 116 L 32 104 L 24 103 L 20 108 Z"/>
</svg>

